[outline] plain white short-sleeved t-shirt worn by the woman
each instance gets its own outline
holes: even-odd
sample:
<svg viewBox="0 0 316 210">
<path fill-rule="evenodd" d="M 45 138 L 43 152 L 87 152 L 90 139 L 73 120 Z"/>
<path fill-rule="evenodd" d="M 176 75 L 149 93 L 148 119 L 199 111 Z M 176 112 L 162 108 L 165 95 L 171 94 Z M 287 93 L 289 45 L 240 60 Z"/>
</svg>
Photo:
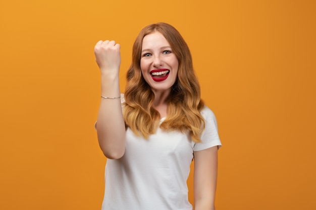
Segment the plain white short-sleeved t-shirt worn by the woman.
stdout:
<svg viewBox="0 0 316 210">
<path fill-rule="evenodd" d="M 214 113 L 205 106 L 201 114 L 206 122 L 202 143 L 160 128 L 144 139 L 128 128 L 124 156 L 106 164 L 102 210 L 192 210 L 187 179 L 193 151 L 221 147 Z"/>
</svg>

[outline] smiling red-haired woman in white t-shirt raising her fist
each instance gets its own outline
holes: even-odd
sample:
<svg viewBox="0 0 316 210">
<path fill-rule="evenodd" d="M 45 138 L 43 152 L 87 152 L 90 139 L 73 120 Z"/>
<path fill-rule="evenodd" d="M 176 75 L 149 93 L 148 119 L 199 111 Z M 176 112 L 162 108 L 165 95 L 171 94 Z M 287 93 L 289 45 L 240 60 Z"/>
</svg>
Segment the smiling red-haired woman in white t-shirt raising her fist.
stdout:
<svg viewBox="0 0 316 210">
<path fill-rule="evenodd" d="M 106 210 L 192 210 L 186 184 L 194 158 L 194 209 L 215 209 L 218 149 L 214 113 L 200 99 L 190 50 L 166 23 L 143 28 L 133 45 L 125 94 L 120 93 L 120 45 L 99 41 L 97 117 L 108 158 Z"/>
</svg>

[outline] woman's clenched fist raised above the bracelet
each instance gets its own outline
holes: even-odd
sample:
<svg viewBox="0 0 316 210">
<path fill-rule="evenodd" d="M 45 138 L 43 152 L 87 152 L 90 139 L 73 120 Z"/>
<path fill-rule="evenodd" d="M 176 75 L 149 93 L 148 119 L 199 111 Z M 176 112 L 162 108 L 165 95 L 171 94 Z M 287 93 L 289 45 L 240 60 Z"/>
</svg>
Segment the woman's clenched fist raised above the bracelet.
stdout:
<svg viewBox="0 0 316 210">
<path fill-rule="evenodd" d="M 94 46 L 95 61 L 101 73 L 119 74 L 121 65 L 120 44 L 115 41 L 98 41 Z"/>
</svg>

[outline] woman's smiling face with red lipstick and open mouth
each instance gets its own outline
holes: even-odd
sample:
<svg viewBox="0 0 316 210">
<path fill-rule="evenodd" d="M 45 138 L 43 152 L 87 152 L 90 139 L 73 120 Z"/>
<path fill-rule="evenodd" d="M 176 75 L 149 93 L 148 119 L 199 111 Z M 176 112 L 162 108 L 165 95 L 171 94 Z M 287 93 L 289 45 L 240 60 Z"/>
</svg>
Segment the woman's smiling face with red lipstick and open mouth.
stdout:
<svg viewBox="0 0 316 210">
<path fill-rule="evenodd" d="M 140 69 L 146 83 L 155 93 L 169 91 L 178 77 L 179 61 L 160 32 L 144 36 L 142 41 Z"/>
</svg>

